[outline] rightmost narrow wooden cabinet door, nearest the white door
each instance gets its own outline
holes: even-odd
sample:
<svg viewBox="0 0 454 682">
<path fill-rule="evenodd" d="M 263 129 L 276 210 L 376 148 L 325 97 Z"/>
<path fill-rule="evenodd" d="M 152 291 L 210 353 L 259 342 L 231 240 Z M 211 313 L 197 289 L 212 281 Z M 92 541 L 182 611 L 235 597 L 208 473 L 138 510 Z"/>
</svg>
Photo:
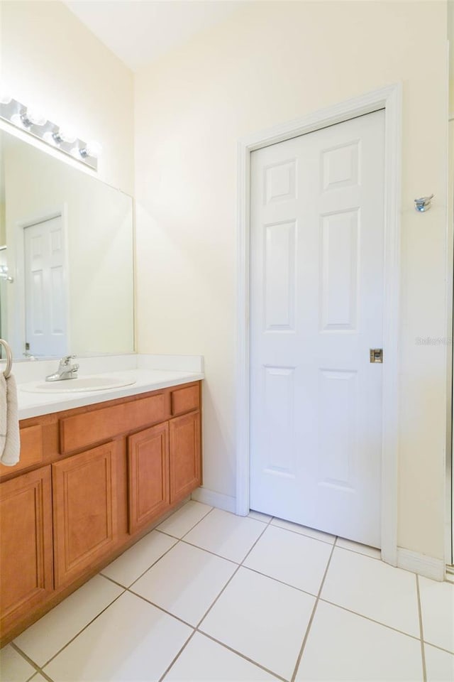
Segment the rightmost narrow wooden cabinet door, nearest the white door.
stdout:
<svg viewBox="0 0 454 682">
<path fill-rule="evenodd" d="M 200 413 L 170 422 L 170 502 L 187 497 L 201 485 Z"/>
</svg>

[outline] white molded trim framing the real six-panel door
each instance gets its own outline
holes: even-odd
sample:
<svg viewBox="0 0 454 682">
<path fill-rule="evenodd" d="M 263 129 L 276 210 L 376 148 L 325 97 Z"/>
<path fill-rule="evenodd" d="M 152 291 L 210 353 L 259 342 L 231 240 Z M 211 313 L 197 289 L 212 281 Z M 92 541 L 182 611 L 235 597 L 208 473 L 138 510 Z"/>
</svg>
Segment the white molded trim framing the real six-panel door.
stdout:
<svg viewBox="0 0 454 682">
<path fill-rule="evenodd" d="M 320 109 L 238 142 L 236 335 L 236 514 L 249 513 L 250 485 L 250 154 L 256 149 L 384 109 L 384 364 L 382 559 L 397 565 L 399 260 L 402 156 L 400 83 Z"/>
</svg>

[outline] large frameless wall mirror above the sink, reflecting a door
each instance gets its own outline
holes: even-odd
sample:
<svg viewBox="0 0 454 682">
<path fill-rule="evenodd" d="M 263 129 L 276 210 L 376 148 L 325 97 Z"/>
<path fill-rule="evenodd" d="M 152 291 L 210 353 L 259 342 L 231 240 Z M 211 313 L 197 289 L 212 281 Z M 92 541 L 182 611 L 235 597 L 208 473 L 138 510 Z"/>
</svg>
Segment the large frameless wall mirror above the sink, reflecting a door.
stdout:
<svg viewBox="0 0 454 682">
<path fill-rule="evenodd" d="M 13 357 L 134 350 L 131 197 L 0 131 L 0 337 Z"/>
</svg>

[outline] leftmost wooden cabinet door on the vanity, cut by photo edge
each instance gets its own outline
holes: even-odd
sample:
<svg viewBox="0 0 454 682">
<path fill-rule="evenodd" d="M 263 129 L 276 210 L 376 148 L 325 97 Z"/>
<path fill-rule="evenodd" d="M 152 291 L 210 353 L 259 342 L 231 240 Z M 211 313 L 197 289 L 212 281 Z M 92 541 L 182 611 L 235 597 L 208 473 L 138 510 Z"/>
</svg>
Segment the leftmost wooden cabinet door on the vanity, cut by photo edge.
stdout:
<svg viewBox="0 0 454 682">
<path fill-rule="evenodd" d="M 0 556 L 6 632 L 53 590 L 50 466 L 0 485 Z"/>
</svg>

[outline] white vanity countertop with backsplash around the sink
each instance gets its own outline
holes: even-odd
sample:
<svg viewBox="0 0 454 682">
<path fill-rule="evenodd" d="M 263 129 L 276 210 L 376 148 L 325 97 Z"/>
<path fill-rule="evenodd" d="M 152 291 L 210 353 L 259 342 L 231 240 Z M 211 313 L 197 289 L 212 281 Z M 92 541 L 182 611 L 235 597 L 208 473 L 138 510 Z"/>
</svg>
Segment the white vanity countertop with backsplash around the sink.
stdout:
<svg viewBox="0 0 454 682">
<path fill-rule="evenodd" d="M 55 372 L 57 363 L 39 361 L 13 366 L 18 386 L 19 419 L 27 419 L 52 412 L 60 412 L 85 405 L 93 405 L 118 398 L 135 396 L 148 391 L 187 384 L 204 379 L 201 356 L 128 355 L 102 358 L 78 358 L 79 377 L 106 374 L 120 379 L 135 379 L 134 384 L 99 391 L 77 393 L 30 393 L 23 388 L 45 380 L 46 374 Z M 33 367 L 32 367 L 33 364 Z M 171 367 L 175 369 L 171 369 Z M 50 367 L 50 369 L 49 369 Z M 31 368 L 31 369 L 27 369 Z M 14 372 L 14 369 L 19 371 Z M 56 384 L 56 382 L 55 382 Z"/>
</svg>

